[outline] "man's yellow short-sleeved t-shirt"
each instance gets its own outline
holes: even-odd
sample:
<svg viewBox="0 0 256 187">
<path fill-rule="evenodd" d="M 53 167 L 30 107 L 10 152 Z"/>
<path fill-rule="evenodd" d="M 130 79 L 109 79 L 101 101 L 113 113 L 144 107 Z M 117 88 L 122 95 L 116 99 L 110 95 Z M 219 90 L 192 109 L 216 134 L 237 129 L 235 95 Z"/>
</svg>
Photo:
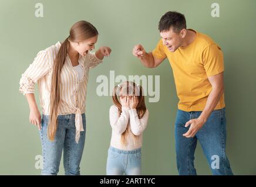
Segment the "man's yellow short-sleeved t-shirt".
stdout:
<svg viewBox="0 0 256 187">
<path fill-rule="evenodd" d="M 190 29 L 192 30 L 192 29 Z M 195 30 L 193 30 L 196 32 Z M 196 39 L 186 47 L 171 52 L 160 40 L 152 54 L 155 58 L 168 58 L 173 68 L 178 109 L 187 112 L 202 111 L 212 86 L 207 77 L 224 71 L 223 53 L 206 34 L 196 32 Z M 225 107 L 224 93 L 215 110 Z"/>
</svg>

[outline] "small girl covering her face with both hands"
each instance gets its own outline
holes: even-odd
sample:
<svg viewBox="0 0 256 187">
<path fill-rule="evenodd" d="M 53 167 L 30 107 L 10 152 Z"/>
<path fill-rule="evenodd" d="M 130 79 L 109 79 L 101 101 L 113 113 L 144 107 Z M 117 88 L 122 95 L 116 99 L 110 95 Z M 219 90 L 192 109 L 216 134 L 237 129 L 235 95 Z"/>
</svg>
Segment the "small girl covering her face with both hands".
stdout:
<svg viewBox="0 0 256 187">
<path fill-rule="evenodd" d="M 107 175 L 140 175 L 142 134 L 149 118 L 142 86 L 123 82 L 114 87 L 112 97 L 114 105 L 109 110 L 112 138 Z"/>
</svg>

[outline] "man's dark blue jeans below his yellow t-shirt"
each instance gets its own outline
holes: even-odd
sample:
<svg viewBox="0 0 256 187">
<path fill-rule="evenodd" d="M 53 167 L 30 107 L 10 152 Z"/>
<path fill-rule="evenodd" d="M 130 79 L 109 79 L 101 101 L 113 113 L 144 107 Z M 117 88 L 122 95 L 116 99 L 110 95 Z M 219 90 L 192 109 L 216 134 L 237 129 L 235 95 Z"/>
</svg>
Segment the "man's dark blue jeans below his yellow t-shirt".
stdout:
<svg viewBox="0 0 256 187">
<path fill-rule="evenodd" d="M 225 154 L 226 122 L 225 108 L 213 110 L 207 122 L 193 138 L 183 136 L 190 126 L 185 124 L 201 115 L 201 111 L 185 112 L 178 110 L 175 123 L 175 146 L 178 174 L 197 175 L 194 168 L 194 153 L 197 140 L 201 144 L 213 175 L 233 175 L 230 162 Z"/>
</svg>

